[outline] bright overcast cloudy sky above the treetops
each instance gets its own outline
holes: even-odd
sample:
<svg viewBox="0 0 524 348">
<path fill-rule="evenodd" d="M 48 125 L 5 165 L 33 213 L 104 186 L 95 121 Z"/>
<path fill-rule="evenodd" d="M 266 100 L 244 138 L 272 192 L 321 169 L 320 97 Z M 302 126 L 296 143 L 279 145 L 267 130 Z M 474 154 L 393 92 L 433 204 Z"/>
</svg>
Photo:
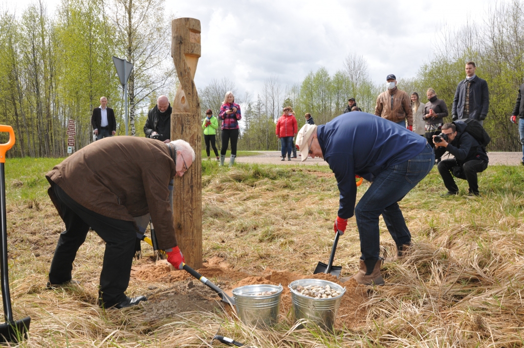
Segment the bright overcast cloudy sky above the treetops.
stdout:
<svg viewBox="0 0 524 348">
<path fill-rule="evenodd" d="M 31 0 L 0 0 L 17 13 Z M 43 0 L 50 13 L 58 0 Z M 343 68 L 348 53 L 362 55 L 370 77 L 384 82 L 416 75 L 432 55 L 436 31 L 486 17 L 488 0 L 168 0 L 167 13 L 200 19 L 202 57 L 195 83 L 227 77 L 256 95 L 263 81 L 283 86 L 310 71 Z"/>
</svg>

